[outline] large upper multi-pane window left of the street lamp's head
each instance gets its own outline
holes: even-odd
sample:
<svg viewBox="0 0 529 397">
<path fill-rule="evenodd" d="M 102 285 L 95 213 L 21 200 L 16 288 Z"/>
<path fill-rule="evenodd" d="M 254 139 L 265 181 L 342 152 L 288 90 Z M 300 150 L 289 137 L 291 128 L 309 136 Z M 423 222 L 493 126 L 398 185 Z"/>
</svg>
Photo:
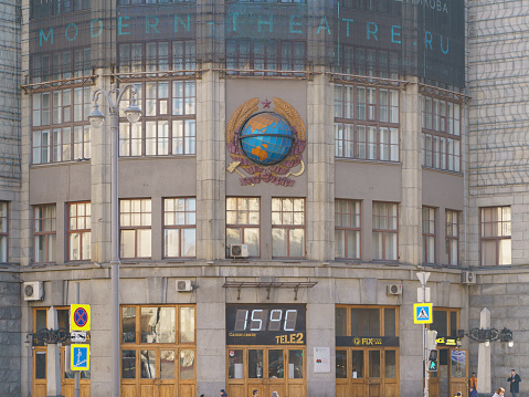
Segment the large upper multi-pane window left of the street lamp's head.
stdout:
<svg viewBox="0 0 529 397">
<path fill-rule="evenodd" d="M 32 164 L 91 158 L 91 88 L 32 95 Z"/>
</svg>

